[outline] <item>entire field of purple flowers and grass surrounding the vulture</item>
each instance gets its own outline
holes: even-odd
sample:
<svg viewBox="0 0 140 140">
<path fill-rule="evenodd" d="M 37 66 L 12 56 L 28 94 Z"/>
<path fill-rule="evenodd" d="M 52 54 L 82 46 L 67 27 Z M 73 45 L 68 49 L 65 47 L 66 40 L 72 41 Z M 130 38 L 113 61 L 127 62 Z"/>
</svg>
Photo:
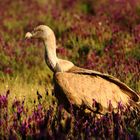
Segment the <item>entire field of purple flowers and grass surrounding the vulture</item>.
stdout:
<svg viewBox="0 0 140 140">
<path fill-rule="evenodd" d="M 56 34 L 59 57 L 114 75 L 140 92 L 138 0 L 4 0 L 0 7 L 0 139 L 140 139 L 137 108 L 118 103 L 114 112 L 110 102 L 110 113 L 98 118 L 72 107 L 68 114 L 52 102 L 44 48 L 24 39 L 46 24 Z"/>
</svg>

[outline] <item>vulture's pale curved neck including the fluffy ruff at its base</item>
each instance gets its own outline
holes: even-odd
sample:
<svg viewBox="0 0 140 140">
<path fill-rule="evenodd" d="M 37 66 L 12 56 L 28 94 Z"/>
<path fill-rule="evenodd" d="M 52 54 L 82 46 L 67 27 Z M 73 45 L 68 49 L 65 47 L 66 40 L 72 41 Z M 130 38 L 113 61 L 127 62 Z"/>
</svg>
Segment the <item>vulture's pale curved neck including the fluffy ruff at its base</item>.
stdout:
<svg viewBox="0 0 140 140">
<path fill-rule="evenodd" d="M 44 40 L 43 43 L 45 46 L 45 61 L 53 72 L 65 72 L 74 66 L 70 61 L 57 58 L 55 36 Z"/>
</svg>

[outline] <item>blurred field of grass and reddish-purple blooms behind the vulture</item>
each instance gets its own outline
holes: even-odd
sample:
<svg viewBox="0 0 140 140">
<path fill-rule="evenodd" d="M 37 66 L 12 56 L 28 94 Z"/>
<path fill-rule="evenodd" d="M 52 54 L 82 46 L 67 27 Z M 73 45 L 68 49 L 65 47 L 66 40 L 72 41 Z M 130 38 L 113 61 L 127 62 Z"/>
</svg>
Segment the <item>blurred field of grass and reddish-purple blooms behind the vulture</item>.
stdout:
<svg viewBox="0 0 140 140">
<path fill-rule="evenodd" d="M 0 7 L 0 94 L 29 101 L 36 91 L 51 94 L 44 47 L 24 39 L 40 24 L 54 30 L 59 57 L 140 92 L 139 0 L 4 0 Z"/>
</svg>

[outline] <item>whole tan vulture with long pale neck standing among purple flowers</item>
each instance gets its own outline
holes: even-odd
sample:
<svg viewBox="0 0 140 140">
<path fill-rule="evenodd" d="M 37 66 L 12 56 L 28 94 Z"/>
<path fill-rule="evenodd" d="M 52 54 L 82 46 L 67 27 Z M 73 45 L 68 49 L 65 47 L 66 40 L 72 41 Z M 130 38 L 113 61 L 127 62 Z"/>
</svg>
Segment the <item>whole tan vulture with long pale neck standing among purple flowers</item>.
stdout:
<svg viewBox="0 0 140 140">
<path fill-rule="evenodd" d="M 119 79 L 59 59 L 56 55 L 55 34 L 50 27 L 39 25 L 32 32 L 27 32 L 25 38 L 43 42 L 45 61 L 54 73 L 55 96 L 66 110 L 71 105 L 76 108 L 84 106 L 89 112 L 105 114 L 110 102 L 113 109 L 118 107 L 118 103 L 127 107 L 139 102 L 138 93 Z"/>
</svg>

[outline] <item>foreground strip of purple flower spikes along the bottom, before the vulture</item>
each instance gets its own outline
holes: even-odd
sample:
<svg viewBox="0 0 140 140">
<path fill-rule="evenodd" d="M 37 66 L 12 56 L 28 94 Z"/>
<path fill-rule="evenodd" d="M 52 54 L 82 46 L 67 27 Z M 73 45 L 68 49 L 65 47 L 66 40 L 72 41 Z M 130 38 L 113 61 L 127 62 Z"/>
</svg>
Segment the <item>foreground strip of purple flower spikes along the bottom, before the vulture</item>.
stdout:
<svg viewBox="0 0 140 140">
<path fill-rule="evenodd" d="M 0 97 L 0 103 L 6 105 L 7 101 L 7 95 Z M 27 115 L 24 101 L 15 99 L 11 115 L 7 106 L 0 106 L 0 136 L 1 139 L 139 139 L 138 108 L 125 108 L 118 103 L 114 111 L 110 106 L 111 102 L 109 113 L 97 117 L 94 113 L 83 114 L 81 109 L 74 111 L 73 107 L 68 114 L 62 105 L 53 102 L 49 108 L 37 104 Z"/>
</svg>

